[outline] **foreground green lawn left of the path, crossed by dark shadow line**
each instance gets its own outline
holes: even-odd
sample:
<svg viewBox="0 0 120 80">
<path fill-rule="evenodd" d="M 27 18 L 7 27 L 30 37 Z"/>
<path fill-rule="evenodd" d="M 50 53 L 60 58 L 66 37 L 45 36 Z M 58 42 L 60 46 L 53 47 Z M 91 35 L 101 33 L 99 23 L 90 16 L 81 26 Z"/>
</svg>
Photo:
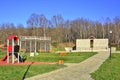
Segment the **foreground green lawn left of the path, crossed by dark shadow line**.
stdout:
<svg viewBox="0 0 120 80">
<path fill-rule="evenodd" d="M 50 72 L 65 66 L 60 65 L 29 65 L 27 66 L 0 66 L 0 80 L 22 80 L 25 78 Z M 28 69 L 29 68 L 29 69 Z M 28 69 L 28 72 L 26 72 Z"/>
</svg>

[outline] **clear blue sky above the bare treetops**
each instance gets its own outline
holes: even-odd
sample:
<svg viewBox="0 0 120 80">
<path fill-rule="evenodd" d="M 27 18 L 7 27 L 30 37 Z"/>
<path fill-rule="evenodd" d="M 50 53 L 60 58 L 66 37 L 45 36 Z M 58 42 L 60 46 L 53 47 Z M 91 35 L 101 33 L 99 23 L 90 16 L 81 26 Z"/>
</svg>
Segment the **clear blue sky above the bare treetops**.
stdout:
<svg viewBox="0 0 120 80">
<path fill-rule="evenodd" d="M 0 0 L 0 24 L 23 24 L 32 13 L 51 19 L 61 14 L 65 20 L 78 17 L 104 20 L 120 16 L 120 0 Z"/>
</svg>

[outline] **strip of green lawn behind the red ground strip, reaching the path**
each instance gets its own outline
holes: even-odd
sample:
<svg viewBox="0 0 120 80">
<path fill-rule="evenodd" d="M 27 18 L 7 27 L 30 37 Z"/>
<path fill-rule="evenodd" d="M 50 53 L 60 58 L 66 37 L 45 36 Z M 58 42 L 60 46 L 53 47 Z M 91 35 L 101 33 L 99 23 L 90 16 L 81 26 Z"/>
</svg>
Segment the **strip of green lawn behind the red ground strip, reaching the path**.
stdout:
<svg viewBox="0 0 120 80">
<path fill-rule="evenodd" d="M 96 54 L 96 52 L 79 52 L 79 53 L 68 53 L 65 56 L 59 56 L 57 53 L 40 53 L 35 57 L 28 57 L 28 61 L 41 61 L 41 62 L 58 62 L 59 59 L 63 59 L 66 63 L 78 63 L 88 57 Z M 29 55 L 28 55 L 29 56 Z"/>
</svg>

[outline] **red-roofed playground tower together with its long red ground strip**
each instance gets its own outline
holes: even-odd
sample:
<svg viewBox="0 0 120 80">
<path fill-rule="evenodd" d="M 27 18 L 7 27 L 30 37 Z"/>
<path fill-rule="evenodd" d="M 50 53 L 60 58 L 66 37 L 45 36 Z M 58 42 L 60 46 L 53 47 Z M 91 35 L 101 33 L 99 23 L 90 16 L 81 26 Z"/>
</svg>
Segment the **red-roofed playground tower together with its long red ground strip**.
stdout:
<svg viewBox="0 0 120 80">
<path fill-rule="evenodd" d="M 19 48 L 19 37 L 9 36 L 7 39 L 7 54 L 0 60 L 0 65 L 56 64 L 56 62 L 25 62 L 26 58 L 19 54 Z"/>
</svg>

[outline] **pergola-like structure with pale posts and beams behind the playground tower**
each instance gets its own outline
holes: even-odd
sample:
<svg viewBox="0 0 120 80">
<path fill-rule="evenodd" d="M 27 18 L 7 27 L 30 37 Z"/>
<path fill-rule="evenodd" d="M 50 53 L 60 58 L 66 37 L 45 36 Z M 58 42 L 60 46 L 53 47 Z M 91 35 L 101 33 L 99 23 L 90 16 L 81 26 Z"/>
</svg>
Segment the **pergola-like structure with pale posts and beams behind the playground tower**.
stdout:
<svg viewBox="0 0 120 80">
<path fill-rule="evenodd" d="M 27 52 L 49 52 L 51 50 L 51 37 L 21 36 L 20 49 Z"/>
</svg>

